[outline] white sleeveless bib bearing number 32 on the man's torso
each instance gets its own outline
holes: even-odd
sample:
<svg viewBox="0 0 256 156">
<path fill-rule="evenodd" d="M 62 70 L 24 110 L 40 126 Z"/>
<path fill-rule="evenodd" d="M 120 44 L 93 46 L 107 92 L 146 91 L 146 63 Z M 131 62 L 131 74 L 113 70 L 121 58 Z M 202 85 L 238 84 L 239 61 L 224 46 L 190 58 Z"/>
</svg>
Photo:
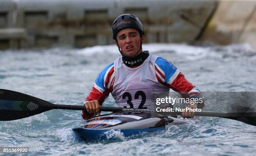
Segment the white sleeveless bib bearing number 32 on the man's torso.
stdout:
<svg viewBox="0 0 256 156">
<path fill-rule="evenodd" d="M 122 57 L 114 61 L 115 82 L 111 92 L 118 107 L 154 109 L 154 93 L 169 92 L 156 79 L 155 61 L 158 56 L 148 58 L 136 68 L 129 68 Z"/>
</svg>

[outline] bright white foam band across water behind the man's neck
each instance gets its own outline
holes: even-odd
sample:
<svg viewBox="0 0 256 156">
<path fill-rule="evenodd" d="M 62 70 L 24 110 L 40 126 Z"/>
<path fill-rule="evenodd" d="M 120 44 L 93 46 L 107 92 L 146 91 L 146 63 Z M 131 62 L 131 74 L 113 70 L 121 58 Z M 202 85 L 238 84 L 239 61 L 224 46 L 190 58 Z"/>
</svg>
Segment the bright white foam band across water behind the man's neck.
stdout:
<svg viewBox="0 0 256 156">
<path fill-rule="evenodd" d="M 207 56 L 222 58 L 222 57 L 235 57 L 256 55 L 256 51 L 251 48 L 249 44 L 232 44 L 228 46 L 191 46 L 187 44 L 175 44 L 175 43 L 151 43 L 143 44 L 143 49 L 149 50 L 151 54 L 159 53 L 176 53 L 184 56 L 188 60 L 202 59 Z M 225 54 L 219 52 L 225 51 Z M 116 54 L 117 47 L 115 45 L 107 46 L 93 46 L 85 49 L 77 50 L 79 54 L 85 56 L 92 56 L 95 54 Z"/>
</svg>

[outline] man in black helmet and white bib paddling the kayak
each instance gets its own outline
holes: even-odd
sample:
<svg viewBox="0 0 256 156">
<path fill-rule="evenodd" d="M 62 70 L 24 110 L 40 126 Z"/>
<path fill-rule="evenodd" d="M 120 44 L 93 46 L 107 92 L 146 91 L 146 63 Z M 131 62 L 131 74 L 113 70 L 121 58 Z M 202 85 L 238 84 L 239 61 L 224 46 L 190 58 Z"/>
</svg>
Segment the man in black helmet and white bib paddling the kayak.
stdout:
<svg viewBox="0 0 256 156">
<path fill-rule="evenodd" d="M 121 57 L 98 74 L 82 111 L 84 119 L 100 115 L 99 107 L 111 92 L 118 107 L 154 109 L 153 92 L 179 92 L 183 97 L 201 97 L 200 91 L 179 72 L 172 62 L 142 51 L 145 34 L 141 21 L 134 15 L 118 16 L 112 25 L 112 35 Z M 141 100 L 140 100 L 141 99 Z M 185 107 L 202 108 L 204 105 Z M 195 112 L 183 112 L 182 117 L 193 117 Z"/>
</svg>

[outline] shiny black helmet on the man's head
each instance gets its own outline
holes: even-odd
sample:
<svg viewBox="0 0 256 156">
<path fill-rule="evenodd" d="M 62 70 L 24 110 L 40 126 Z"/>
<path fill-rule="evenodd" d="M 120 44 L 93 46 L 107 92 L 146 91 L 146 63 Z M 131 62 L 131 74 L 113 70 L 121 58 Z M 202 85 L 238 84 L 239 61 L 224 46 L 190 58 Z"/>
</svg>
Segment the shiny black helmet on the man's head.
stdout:
<svg viewBox="0 0 256 156">
<path fill-rule="evenodd" d="M 141 21 L 135 15 L 123 14 L 118 16 L 112 24 L 113 39 L 116 40 L 118 32 L 125 28 L 134 28 L 141 36 L 144 35 L 144 29 Z"/>
</svg>

